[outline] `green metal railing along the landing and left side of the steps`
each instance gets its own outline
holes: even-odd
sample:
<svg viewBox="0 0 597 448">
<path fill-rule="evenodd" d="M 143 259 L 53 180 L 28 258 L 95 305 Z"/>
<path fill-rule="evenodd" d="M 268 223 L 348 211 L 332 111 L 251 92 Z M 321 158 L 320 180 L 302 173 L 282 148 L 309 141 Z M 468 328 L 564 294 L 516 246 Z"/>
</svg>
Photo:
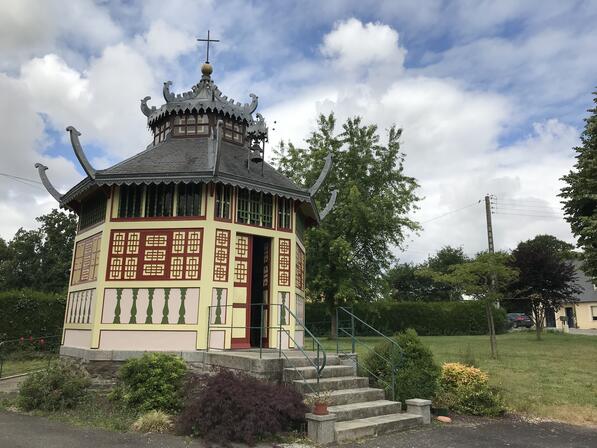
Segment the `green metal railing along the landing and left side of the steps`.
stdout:
<svg viewBox="0 0 597 448">
<path fill-rule="evenodd" d="M 261 317 L 261 325 L 234 325 L 234 319 L 233 319 L 233 315 L 232 313 L 234 312 L 234 310 L 243 310 L 243 312 L 246 312 L 246 306 L 249 307 L 258 307 L 259 308 L 259 315 Z M 306 385 L 306 387 L 308 387 L 312 392 L 318 392 L 319 391 L 319 380 L 321 378 L 323 369 L 326 366 L 327 363 L 327 354 L 325 352 L 325 349 L 323 348 L 323 345 L 321 344 L 321 342 L 319 341 L 319 339 L 317 339 L 315 337 L 315 335 L 313 335 L 313 333 L 311 333 L 311 331 L 305 326 L 305 323 L 298 318 L 298 316 L 285 304 L 265 304 L 265 303 L 255 303 L 255 304 L 248 304 L 248 305 L 244 305 L 242 307 L 237 307 L 235 308 L 234 305 L 210 305 L 207 307 L 208 308 L 208 321 L 207 321 L 207 351 L 209 352 L 210 349 L 212 349 L 211 347 L 211 331 L 214 329 L 218 329 L 218 330 L 230 330 L 230 338 L 231 339 L 235 339 L 233 337 L 233 333 L 234 330 L 245 330 L 245 332 L 248 332 L 248 338 L 249 338 L 249 344 L 250 344 L 250 340 L 251 340 L 251 332 L 252 330 L 259 330 L 259 346 L 255 346 L 255 347 L 251 347 L 247 350 L 259 350 L 259 359 L 263 358 L 263 351 L 266 348 L 270 348 L 269 344 L 269 338 L 270 338 L 270 330 L 277 330 L 278 331 L 278 341 L 277 341 L 277 352 L 278 352 L 278 358 L 282 359 L 286 359 L 286 361 L 288 361 L 289 367 L 294 368 L 294 370 L 297 372 L 297 374 L 303 379 L 304 384 Z M 252 315 L 252 311 L 255 308 L 250 308 L 249 310 L 249 315 Z M 276 325 L 269 325 L 270 319 L 273 316 L 272 310 L 277 309 L 278 310 L 278 315 L 276 316 L 277 318 L 277 324 Z M 230 310 L 230 311 L 229 311 Z M 223 319 L 222 323 L 222 311 L 225 312 L 225 317 Z M 283 317 L 282 317 L 283 316 Z M 303 332 L 303 341 L 297 341 L 291 334 L 291 331 L 288 328 L 285 328 L 289 325 L 290 321 L 287 322 L 287 316 L 289 318 L 294 319 L 295 322 L 295 331 L 297 331 L 297 328 L 300 328 L 300 330 L 298 331 L 302 331 Z M 226 323 L 229 322 L 229 323 Z M 282 334 L 286 334 L 286 336 L 288 337 L 288 342 L 290 345 L 290 342 L 292 342 L 292 344 L 294 345 L 294 348 L 296 350 L 298 350 L 305 359 L 307 359 L 307 361 L 309 362 L 309 364 L 315 369 L 315 375 L 316 375 L 316 385 L 317 385 L 317 390 L 315 390 L 311 384 L 307 381 L 307 378 L 305 378 L 305 376 L 303 375 L 303 373 L 298 370 L 297 366 L 292 365 L 292 360 L 291 358 L 286 354 L 286 352 L 282 349 L 283 343 L 282 343 Z M 307 351 L 305 351 L 304 349 L 304 343 L 305 343 L 305 336 L 308 336 L 311 338 L 311 343 L 312 343 L 312 347 L 313 347 L 313 352 L 315 353 L 315 357 L 311 357 L 309 356 L 309 353 Z M 245 333 L 245 337 L 246 337 L 246 333 Z M 268 341 L 268 347 L 264 347 L 264 341 L 267 340 Z M 224 340 L 224 347 L 225 347 L 225 340 Z M 224 348 L 221 348 L 220 350 L 225 350 Z"/>
</svg>

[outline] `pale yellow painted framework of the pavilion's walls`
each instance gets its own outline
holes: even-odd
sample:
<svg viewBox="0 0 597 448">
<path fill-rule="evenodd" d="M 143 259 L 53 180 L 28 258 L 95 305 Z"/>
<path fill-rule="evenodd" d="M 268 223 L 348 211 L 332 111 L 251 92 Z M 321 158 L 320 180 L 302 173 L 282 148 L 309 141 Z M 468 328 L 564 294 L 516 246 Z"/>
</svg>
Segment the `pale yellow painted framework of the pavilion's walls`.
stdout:
<svg viewBox="0 0 597 448">
<path fill-rule="evenodd" d="M 208 327 L 208 307 L 211 304 L 212 288 L 227 288 L 228 289 L 228 305 L 232 305 L 234 300 L 239 300 L 240 297 L 235 298 L 234 288 L 234 254 L 235 241 L 237 233 L 259 235 L 269 237 L 272 239 L 271 245 L 271 289 L 270 289 L 270 303 L 277 304 L 278 292 L 288 291 L 289 303 L 288 306 L 293 313 L 295 309 L 295 266 L 296 266 L 296 233 L 293 228 L 292 232 L 281 232 L 273 229 L 235 224 L 228 222 L 221 222 L 214 220 L 214 205 L 215 196 L 207 193 L 207 188 L 204 188 L 205 195 L 202 201 L 204 210 L 206 211 L 205 220 L 139 220 L 139 221 L 111 221 L 110 216 L 116 217 L 118 213 L 118 188 L 113 189 L 114 194 L 111 195 L 107 201 L 106 221 L 91 229 L 85 230 L 78 234 L 75 239 L 75 244 L 89 236 L 102 232 L 101 252 L 99 257 L 99 266 L 97 271 L 97 281 L 84 283 L 76 286 L 69 285 L 69 294 L 74 291 L 95 288 L 95 303 L 93 311 L 93 323 L 91 324 L 65 324 L 65 331 L 71 329 L 91 329 L 91 346 L 92 349 L 100 348 L 100 332 L 102 330 L 144 330 L 144 331 L 196 331 L 197 332 L 197 349 L 205 349 L 207 347 L 207 327 Z M 236 196 L 233 202 L 236 201 Z M 176 209 L 176 203 L 174 204 Z M 273 218 L 274 222 L 277 219 L 277 201 L 274 200 Z M 296 226 L 296 216 L 292 217 L 293 224 Z M 202 263 L 201 263 L 201 280 L 170 280 L 170 281 L 109 281 L 106 280 L 106 270 L 108 266 L 108 249 L 110 243 L 110 233 L 112 230 L 132 230 L 132 229 L 180 229 L 180 228 L 203 228 L 202 241 Z M 215 233 L 216 229 L 227 229 L 231 232 L 230 238 L 230 253 L 229 253 L 229 267 L 228 267 L 228 282 L 214 282 L 213 281 L 213 265 L 214 265 L 214 251 L 215 251 Z M 290 286 L 278 287 L 278 240 L 279 238 L 286 238 L 290 240 L 291 244 L 291 270 L 290 270 Z M 302 244 L 301 244 L 302 246 Z M 303 247 L 304 249 L 304 247 Z M 102 306 L 104 289 L 106 288 L 200 288 L 199 299 L 199 319 L 197 324 L 108 324 L 102 323 Z M 237 288 L 238 289 L 238 288 Z M 232 312 L 232 306 L 228 307 L 227 312 Z M 271 347 L 278 345 L 278 328 L 273 328 L 277 324 L 279 316 L 279 307 L 273 307 L 272 315 L 270 317 L 270 334 L 269 341 Z M 238 319 L 237 319 L 238 321 Z M 210 325 L 211 329 L 224 329 L 226 331 L 225 347 L 230 348 L 230 339 L 232 330 L 230 328 L 232 322 L 231 316 L 227 317 L 226 324 L 214 326 Z M 294 320 L 287 319 L 285 329 L 292 335 L 294 333 Z M 154 335 L 155 333 L 151 333 Z M 153 336 L 152 336 L 153 337 Z M 64 336 L 63 336 L 64 340 Z M 292 344 L 291 344 L 292 345 Z"/>
</svg>

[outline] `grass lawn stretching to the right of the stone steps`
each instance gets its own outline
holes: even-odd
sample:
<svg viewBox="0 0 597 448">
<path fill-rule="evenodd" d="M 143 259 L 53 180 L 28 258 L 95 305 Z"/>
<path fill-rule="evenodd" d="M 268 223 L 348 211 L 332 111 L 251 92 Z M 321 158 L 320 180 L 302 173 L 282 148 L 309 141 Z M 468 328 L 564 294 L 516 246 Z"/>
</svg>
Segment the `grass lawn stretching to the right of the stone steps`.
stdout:
<svg viewBox="0 0 597 448">
<path fill-rule="evenodd" d="M 508 407 L 516 413 L 577 424 L 597 425 L 597 337 L 514 332 L 498 337 L 499 359 L 489 356 L 487 336 L 426 336 L 438 363 L 474 361 L 498 386 Z M 374 345 L 379 338 L 362 338 Z M 323 339 L 326 350 L 336 342 Z M 341 340 L 350 351 L 350 341 Z M 306 344 L 306 347 L 309 347 Z M 357 352 L 364 356 L 366 349 Z"/>
</svg>

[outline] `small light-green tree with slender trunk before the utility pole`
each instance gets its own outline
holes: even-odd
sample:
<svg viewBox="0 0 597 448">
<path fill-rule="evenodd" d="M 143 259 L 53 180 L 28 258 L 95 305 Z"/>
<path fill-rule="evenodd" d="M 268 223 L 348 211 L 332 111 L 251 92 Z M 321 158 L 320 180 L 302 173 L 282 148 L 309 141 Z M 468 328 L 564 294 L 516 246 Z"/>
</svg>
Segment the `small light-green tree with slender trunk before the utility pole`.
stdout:
<svg viewBox="0 0 597 448">
<path fill-rule="evenodd" d="M 504 252 L 482 252 L 470 262 L 452 266 L 447 274 L 428 271 L 434 279 L 456 285 L 464 294 L 485 302 L 492 358 L 497 357 L 497 340 L 491 307 L 518 277 L 516 270 L 508 266 L 510 260 L 511 256 Z"/>
</svg>

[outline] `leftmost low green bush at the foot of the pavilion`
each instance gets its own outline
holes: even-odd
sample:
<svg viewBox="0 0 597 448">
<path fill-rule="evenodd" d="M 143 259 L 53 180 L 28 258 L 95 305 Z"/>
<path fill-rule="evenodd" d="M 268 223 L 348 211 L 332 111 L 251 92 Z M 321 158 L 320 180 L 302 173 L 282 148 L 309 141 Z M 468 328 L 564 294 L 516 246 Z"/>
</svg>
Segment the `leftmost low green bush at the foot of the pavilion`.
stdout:
<svg viewBox="0 0 597 448">
<path fill-rule="evenodd" d="M 25 411 L 69 409 L 85 397 L 90 385 L 89 375 L 81 367 L 57 362 L 27 377 L 19 388 L 17 406 Z"/>
</svg>

